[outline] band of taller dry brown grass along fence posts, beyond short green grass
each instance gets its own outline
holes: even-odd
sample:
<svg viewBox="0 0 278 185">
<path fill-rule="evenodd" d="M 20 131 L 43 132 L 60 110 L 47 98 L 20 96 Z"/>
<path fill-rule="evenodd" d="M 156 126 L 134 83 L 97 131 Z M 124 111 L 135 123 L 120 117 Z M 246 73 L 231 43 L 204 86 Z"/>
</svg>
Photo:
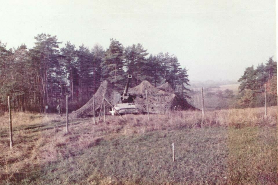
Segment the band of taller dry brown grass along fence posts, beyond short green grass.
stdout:
<svg viewBox="0 0 278 185">
<path fill-rule="evenodd" d="M 150 122 L 147 115 L 125 115 L 124 118 L 127 122 L 120 116 L 107 116 L 105 123 L 100 120 L 97 125 L 93 125 L 91 118 L 72 120 L 70 133 L 65 134 L 65 116 L 13 113 L 14 148 L 10 151 L 8 114 L 5 113 L 0 117 L 0 182 L 1 179 L 23 180 L 26 172 L 36 171 L 38 166 L 74 157 L 84 149 L 97 146 L 101 140 L 119 136 L 156 130 L 276 125 L 277 107 L 268 107 L 267 118 L 264 118 L 264 108 L 207 111 L 204 120 L 200 111 L 151 114 Z M 30 129 L 26 129 L 28 127 Z M 100 184 L 110 181 L 105 177 Z"/>
</svg>

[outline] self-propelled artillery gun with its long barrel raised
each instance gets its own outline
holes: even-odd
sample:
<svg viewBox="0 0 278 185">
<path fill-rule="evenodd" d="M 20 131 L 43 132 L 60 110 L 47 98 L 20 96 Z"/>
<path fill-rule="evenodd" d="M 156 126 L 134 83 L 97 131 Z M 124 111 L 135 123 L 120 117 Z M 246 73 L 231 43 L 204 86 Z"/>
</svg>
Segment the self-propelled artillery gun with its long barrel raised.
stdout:
<svg viewBox="0 0 278 185">
<path fill-rule="evenodd" d="M 125 85 L 125 89 L 123 92 L 120 93 L 122 103 L 118 103 L 115 105 L 115 109 L 120 114 L 138 113 L 138 109 L 134 104 L 134 99 L 136 98 L 136 96 L 128 93 L 128 88 L 129 88 L 131 78 L 132 75 L 130 74 L 127 75 L 127 83 Z"/>
</svg>

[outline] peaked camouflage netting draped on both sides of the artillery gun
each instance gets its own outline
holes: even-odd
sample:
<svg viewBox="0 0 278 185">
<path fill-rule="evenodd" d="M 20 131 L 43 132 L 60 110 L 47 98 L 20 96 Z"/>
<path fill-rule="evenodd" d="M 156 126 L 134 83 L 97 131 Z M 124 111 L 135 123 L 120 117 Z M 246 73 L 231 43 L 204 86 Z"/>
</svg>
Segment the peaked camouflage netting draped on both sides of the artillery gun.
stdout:
<svg viewBox="0 0 278 185">
<path fill-rule="evenodd" d="M 134 103 L 139 112 L 147 112 L 147 100 L 145 90 L 148 93 L 148 105 L 150 113 L 164 113 L 182 107 L 182 109 L 196 109 L 189 105 L 186 101 L 182 101 L 170 87 L 168 83 L 162 84 L 159 87 L 154 87 L 148 81 L 143 81 L 136 87 L 130 88 L 129 93 L 136 95 Z M 105 98 L 111 102 L 112 105 L 121 103 L 120 93 L 122 90 L 117 90 L 117 87 L 111 85 L 106 80 L 100 84 L 100 87 L 95 93 L 95 112 L 99 113 L 103 94 Z M 107 104 L 106 104 L 107 105 Z M 106 111 L 110 111 L 111 107 L 106 106 Z M 72 112 L 70 117 L 85 118 L 93 116 L 93 98 L 91 98 L 83 107 Z"/>
</svg>

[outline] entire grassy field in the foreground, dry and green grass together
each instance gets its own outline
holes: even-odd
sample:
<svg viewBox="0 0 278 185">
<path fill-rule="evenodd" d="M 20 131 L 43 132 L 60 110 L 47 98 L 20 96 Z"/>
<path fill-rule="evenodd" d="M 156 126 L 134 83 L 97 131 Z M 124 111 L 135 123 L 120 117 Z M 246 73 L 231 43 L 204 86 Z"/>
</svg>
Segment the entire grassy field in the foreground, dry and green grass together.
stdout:
<svg viewBox="0 0 278 185">
<path fill-rule="evenodd" d="M 277 184 L 277 107 L 92 119 L 0 119 L 0 184 Z M 172 161 L 175 143 L 175 162 Z"/>
</svg>

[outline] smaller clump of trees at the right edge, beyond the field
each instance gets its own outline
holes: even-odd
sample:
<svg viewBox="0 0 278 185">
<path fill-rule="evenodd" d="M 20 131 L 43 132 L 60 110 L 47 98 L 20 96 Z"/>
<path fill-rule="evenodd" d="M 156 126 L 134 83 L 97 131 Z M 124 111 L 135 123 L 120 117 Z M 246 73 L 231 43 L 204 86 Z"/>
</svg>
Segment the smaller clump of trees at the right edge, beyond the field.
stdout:
<svg viewBox="0 0 278 185">
<path fill-rule="evenodd" d="M 266 64 L 256 68 L 247 67 L 239 78 L 239 105 L 242 107 L 260 107 L 264 105 L 264 84 L 266 84 L 268 105 L 277 105 L 277 62 L 273 56 Z"/>
</svg>

